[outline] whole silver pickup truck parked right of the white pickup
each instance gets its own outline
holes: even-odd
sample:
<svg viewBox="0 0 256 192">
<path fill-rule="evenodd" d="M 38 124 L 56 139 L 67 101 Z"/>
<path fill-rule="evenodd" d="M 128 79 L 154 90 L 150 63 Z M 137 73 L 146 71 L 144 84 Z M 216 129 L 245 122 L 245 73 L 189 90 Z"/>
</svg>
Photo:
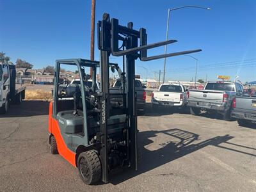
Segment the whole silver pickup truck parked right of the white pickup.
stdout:
<svg viewBox="0 0 256 192">
<path fill-rule="evenodd" d="M 188 106 L 192 115 L 199 115 L 201 110 L 217 112 L 224 120 L 230 120 L 232 102 L 236 93 L 243 92 L 241 83 L 229 81 L 209 81 L 204 90 L 189 90 Z"/>
</svg>

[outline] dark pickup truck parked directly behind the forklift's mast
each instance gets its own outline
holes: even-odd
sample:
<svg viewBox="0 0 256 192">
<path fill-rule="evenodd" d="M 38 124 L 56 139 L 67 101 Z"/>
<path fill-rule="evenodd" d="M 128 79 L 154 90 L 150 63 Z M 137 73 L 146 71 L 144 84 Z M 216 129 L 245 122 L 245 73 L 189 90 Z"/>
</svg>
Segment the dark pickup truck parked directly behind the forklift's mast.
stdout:
<svg viewBox="0 0 256 192">
<path fill-rule="evenodd" d="M 137 95 L 137 111 L 140 112 L 141 114 L 145 113 L 145 101 L 146 101 L 146 92 L 144 90 L 144 86 L 142 86 L 140 80 L 135 80 L 135 91 Z M 110 97 L 110 102 L 111 106 L 121 106 L 122 105 L 122 93 L 124 92 L 123 90 L 123 85 L 122 81 L 120 79 L 117 79 L 115 83 L 113 84 L 113 87 L 109 89 L 109 94 L 111 95 Z M 118 95 L 120 93 L 120 95 Z"/>
</svg>

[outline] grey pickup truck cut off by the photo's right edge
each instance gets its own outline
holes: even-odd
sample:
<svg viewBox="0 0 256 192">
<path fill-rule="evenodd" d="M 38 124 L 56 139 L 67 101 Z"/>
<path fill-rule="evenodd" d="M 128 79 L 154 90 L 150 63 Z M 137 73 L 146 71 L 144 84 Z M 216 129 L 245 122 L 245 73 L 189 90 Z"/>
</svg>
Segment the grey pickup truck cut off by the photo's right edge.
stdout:
<svg viewBox="0 0 256 192">
<path fill-rule="evenodd" d="M 237 118 L 240 126 L 246 126 L 252 122 L 256 127 L 256 93 L 252 97 L 246 94 L 237 96 L 233 100 L 233 108 L 231 116 Z"/>
</svg>

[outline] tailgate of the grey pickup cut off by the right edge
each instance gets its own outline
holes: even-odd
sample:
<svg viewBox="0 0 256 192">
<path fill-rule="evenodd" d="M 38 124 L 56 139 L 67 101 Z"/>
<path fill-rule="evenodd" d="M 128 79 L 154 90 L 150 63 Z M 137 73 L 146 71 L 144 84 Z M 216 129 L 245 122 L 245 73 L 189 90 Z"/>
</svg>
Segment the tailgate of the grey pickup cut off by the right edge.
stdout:
<svg viewBox="0 0 256 192">
<path fill-rule="evenodd" d="M 252 113 L 256 113 L 256 97 L 237 97 L 236 109 L 246 109 Z"/>
</svg>

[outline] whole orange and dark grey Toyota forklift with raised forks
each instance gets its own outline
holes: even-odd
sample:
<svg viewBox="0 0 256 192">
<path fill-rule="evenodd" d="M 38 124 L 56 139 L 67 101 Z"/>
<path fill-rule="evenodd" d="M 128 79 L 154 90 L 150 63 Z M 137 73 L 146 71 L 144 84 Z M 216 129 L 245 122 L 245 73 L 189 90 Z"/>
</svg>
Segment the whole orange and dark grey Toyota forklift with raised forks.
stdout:
<svg viewBox="0 0 256 192">
<path fill-rule="evenodd" d="M 174 52 L 147 56 L 147 49 L 177 42 L 168 40 L 147 44 L 146 29 L 132 28 L 132 22 L 120 26 L 117 19 L 104 13 L 97 24 L 100 61 L 83 59 L 57 60 L 53 102 L 49 107 L 49 144 L 52 154 L 60 154 L 77 168 L 85 184 L 102 180 L 109 182 L 109 173 L 122 167 L 137 170 L 137 111 L 134 87 L 135 60 L 150 61 L 201 51 Z M 138 42 L 140 40 L 140 42 Z M 140 44 L 140 45 L 138 45 Z M 119 47 L 121 45 L 121 47 Z M 109 94 L 109 56 L 123 57 L 121 74 L 123 102 L 112 106 Z M 77 68 L 78 83 L 61 79 L 61 66 Z M 93 68 L 93 75 L 86 68 Z M 100 69 L 100 89 L 96 86 L 97 67 Z M 88 79 L 92 85 L 88 86 Z M 113 96 L 113 95 L 112 95 Z"/>
</svg>

